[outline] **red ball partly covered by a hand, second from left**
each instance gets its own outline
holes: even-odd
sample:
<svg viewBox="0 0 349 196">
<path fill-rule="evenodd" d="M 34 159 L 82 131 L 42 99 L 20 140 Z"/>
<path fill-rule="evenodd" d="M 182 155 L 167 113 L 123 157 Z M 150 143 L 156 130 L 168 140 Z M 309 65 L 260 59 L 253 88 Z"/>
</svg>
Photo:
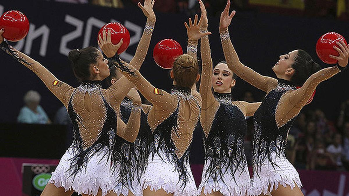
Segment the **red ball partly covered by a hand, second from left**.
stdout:
<svg viewBox="0 0 349 196">
<path fill-rule="evenodd" d="M 108 31 L 110 30 L 110 38 L 113 44 L 118 44 L 121 38 L 123 38 L 122 45 L 118 50 L 118 54 L 125 52 L 128 45 L 130 44 L 130 33 L 124 27 L 124 25 L 118 22 L 110 22 L 108 24 L 105 24 L 101 29 L 99 29 L 99 32 L 98 32 L 98 35 L 101 35 L 102 39 L 103 39 L 103 30 L 105 30 L 106 36 L 108 36 Z M 98 40 L 98 35 L 97 35 L 97 40 Z"/>
</svg>

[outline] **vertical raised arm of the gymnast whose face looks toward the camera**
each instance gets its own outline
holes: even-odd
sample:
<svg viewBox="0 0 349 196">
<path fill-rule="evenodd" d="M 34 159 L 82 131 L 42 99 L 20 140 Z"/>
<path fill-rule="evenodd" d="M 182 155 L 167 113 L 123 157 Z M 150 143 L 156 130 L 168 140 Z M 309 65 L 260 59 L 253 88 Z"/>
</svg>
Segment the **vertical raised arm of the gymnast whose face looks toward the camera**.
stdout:
<svg viewBox="0 0 349 196">
<path fill-rule="evenodd" d="M 202 33 L 205 33 L 207 32 L 207 28 L 208 28 L 207 12 L 202 0 L 199 0 L 199 3 L 200 3 L 200 9 L 201 9 L 200 20 L 202 20 L 200 31 Z M 211 58 L 211 48 L 210 48 L 208 36 L 202 37 L 200 41 L 201 41 L 200 51 L 201 51 L 201 60 L 202 60 L 200 95 L 202 97 L 202 110 L 206 110 L 216 100 L 211 91 L 213 63 Z"/>
</svg>

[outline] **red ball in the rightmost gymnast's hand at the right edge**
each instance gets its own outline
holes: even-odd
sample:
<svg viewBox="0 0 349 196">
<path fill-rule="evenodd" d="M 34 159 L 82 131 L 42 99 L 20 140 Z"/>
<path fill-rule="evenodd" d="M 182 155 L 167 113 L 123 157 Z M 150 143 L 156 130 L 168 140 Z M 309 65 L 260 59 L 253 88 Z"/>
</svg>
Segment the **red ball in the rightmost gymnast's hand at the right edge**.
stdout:
<svg viewBox="0 0 349 196">
<path fill-rule="evenodd" d="M 328 32 L 322 35 L 318 42 L 316 43 L 316 54 L 318 54 L 321 61 L 324 61 L 327 64 L 336 64 L 338 61 L 336 59 L 330 58 L 328 55 L 332 54 L 334 56 L 339 56 L 339 53 L 333 48 L 333 46 L 337 46 L 336 42 L 343 40 L 345 44 L 347 44 L 346 39 L 341 36 L 339 33 Z"/>
</svg>

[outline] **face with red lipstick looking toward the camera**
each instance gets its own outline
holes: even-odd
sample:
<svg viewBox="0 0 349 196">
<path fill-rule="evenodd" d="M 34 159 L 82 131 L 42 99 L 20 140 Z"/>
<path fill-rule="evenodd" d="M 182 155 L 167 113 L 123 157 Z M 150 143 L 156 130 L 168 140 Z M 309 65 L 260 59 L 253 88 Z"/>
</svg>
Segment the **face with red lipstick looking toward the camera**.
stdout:
<svg viewBox="0 0 349 196">
<path fill-rule="evenodd" d="M 233 86 L 235 86 L 233 72 L 228 68 L 226 63 L 218 63 L 213 69 L 213 90 L 218 93 L 230 93 Z"/>
</svg>

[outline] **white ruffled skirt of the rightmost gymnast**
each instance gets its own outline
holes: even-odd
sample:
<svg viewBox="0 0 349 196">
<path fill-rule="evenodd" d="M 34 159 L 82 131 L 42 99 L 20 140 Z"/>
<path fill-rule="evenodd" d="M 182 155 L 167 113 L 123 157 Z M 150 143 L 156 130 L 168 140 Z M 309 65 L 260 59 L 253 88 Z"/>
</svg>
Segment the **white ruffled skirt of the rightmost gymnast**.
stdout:
<svg viewBox="0 0 349 196">
<path fill-rule="evenodd" d="M 275 152 L 272 153 L 273 165 L 268 159 L 264 160 L 258 168 L 253 165 L 253 178 L 248 194 L 250 195 L 271 195 L 273 189 L 277 189 L 279 184 L 286 187 L 287 185 L 293 190 L 296 186 L 301 188 L 299 174 L 295 167 L 286 159 L 279 157 Z M 270 184 L 270 188 L 268 189 Z"/>
</svg>

